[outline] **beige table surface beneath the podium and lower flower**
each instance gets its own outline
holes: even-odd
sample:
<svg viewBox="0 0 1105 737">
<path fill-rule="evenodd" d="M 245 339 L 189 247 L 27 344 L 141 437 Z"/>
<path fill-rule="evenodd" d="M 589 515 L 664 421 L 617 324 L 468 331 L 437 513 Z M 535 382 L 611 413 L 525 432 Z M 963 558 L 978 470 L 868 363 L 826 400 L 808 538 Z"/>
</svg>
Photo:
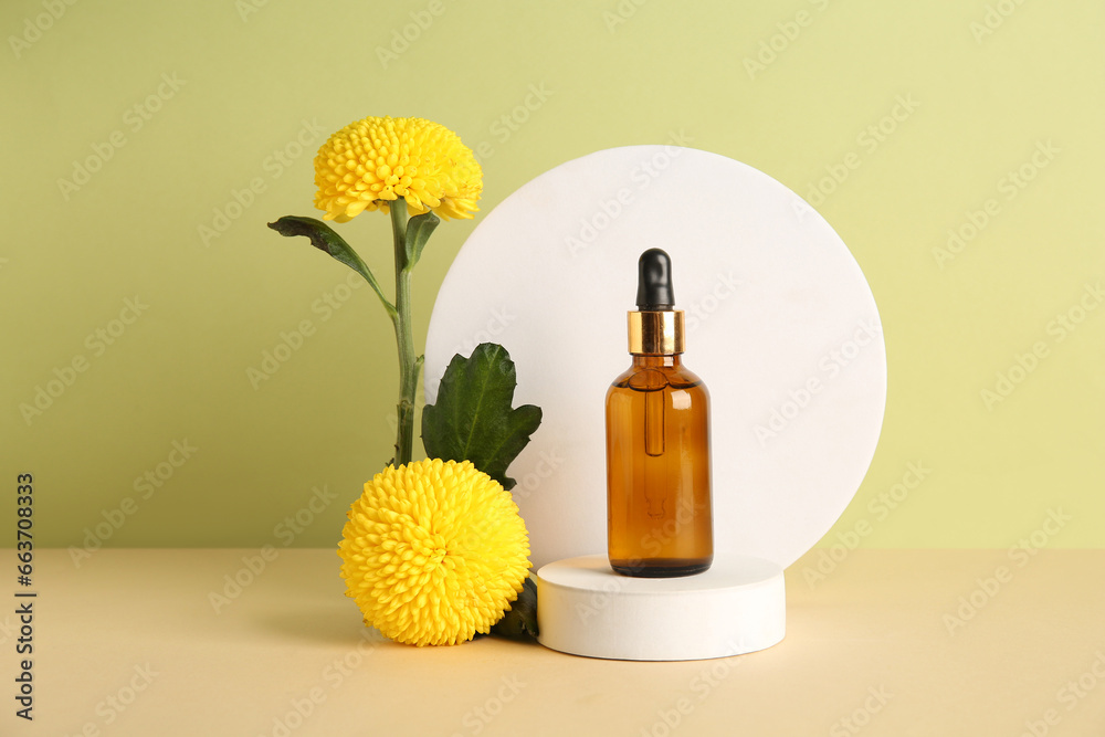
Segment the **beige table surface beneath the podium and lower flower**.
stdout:
<svg viewBox="0 0 1105 737">
<path fill-rule="evenodd" d="M 1105 735 L 1103 550 L 856 550 L 811 585 L 814 550 L 782 643 L 685 663 L 381 642 L 328 549 L 278 550 L 215 613 L 256 552 L 38 551 L 35 720 L 12 580 L 0 735 Z"/>
</svg>

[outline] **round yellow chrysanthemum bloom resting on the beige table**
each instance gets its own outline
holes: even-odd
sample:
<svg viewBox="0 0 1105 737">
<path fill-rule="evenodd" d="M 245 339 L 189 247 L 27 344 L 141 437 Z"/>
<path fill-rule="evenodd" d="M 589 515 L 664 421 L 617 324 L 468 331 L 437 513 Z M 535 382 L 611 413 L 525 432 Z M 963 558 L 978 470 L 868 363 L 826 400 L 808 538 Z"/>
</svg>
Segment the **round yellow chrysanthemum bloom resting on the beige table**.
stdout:
<svg viewBox="0 0 1105 737">
<path fill-rule="evenodd" d="M 388 466 L 348 512 L 338 555 L 365 623 L 412 645 L 488 632 L 528 575 L 511 493 L 469 461 Z"/>
</svg>

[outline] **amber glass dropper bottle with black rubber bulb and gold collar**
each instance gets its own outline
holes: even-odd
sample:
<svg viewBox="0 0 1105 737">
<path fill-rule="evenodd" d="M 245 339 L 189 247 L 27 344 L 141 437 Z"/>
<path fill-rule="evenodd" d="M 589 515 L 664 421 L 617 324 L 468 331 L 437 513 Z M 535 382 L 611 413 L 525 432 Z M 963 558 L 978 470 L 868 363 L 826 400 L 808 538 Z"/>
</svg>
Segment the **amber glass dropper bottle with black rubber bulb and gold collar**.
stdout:
<svg viewBox="0 0 1105 737">
<path fill-rule="evenodd" d="M 607 392 L 607 544 L 625 576 L 690 576 L 714 559 L 709 393 L 680 359 L 671 260 L 650 249 L 629 314 L 633 365 Z"/>
</svg>

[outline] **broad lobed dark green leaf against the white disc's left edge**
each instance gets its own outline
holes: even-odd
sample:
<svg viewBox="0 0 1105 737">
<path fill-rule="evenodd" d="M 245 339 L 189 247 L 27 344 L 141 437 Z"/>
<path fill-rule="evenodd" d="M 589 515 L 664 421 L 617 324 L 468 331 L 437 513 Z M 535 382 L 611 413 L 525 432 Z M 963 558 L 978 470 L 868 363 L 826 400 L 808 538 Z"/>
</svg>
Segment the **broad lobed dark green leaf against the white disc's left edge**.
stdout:
<svg viewBox="0 0 1105 737">
<path fill-rule="evenodd" d="M 506 470 L 541 423 L 539 407 L 512 408 L 517 383 L 514 361 L 503 346 L 482 343 L 471 358 L 453 356 L 438 402 L 422 410 L 427 455 L 471 461 L 504 488 L 514 488 Z"/>
</svg>

